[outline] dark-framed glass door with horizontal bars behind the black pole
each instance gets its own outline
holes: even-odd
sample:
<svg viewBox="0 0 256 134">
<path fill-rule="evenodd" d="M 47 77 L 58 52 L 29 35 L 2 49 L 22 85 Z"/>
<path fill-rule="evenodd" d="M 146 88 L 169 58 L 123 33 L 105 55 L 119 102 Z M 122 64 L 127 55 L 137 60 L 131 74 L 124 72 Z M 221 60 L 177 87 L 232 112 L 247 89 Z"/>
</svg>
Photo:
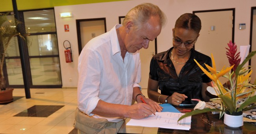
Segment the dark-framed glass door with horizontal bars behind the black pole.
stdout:
<svg viewBox="0 0 256 134">
<path fill-rule="evenodd" d="M 60 60 L 54 9 L 22 11 L 28 37 L 27 55 L 29 60 L 27 72 L 31 88 L 61 88 Z M 17 41 L 8 48 L 6 71 L 8 83 L 15 88 L 23 87 L 21 61 Z"/>
</svg>

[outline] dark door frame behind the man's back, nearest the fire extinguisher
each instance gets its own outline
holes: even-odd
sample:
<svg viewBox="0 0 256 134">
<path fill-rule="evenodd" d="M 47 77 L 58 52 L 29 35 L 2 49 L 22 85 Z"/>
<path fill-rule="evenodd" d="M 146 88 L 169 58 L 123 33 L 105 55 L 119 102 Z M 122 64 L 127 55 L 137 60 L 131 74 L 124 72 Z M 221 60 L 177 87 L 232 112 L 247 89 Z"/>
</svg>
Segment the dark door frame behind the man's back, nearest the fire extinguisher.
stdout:
<svg viewBox="0 0 256 134">
<path fill-rule="evenodd" d="M 106 26 L 106 18 L 90 18 L 90 19 L 80 19 L 76 20 L 77 24 L 77 42 L 78 42 L 78 53 L 80 55 L 82 51 L 82 42 L 81 42 L 81 34 L 80 34 L 80 22 L 88 22 L 88 21 L 95 21 L 95 20 L 104 20 L 104 26 L 105 26 L 105 33 L 107 32 L 107 26 Z"/>
</svg>

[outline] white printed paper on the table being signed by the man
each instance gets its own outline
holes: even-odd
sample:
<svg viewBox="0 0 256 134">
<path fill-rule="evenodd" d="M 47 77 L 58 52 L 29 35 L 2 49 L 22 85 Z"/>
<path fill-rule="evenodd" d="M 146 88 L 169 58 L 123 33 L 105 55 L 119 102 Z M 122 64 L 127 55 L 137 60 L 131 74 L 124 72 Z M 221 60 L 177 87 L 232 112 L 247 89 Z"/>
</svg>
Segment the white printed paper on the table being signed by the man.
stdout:
<svg viewBox="0 0 256 134">
<path fill-rule="evenodd" d="M 161 127 L 165 129 L 189 130 L 191 128 L 191 116 L 177 122 L 183 113 L 176 112 L 155 112 L 144 119 L 131 119 L 126 125 L 142 127 Z"/>
</svg>

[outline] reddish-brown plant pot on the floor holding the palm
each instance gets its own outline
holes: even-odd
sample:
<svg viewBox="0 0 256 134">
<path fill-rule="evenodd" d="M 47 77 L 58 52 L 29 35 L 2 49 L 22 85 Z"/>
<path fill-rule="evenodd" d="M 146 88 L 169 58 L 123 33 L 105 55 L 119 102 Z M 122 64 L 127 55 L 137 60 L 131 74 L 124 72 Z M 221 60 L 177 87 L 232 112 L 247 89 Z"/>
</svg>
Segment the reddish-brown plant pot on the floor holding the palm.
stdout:
<svg viewBox="0 0 256 134">
<path fill-rule="evenodd" d="M 13 88 L 6 88 L 0 91 L 0 104 L 5 104 L 13 101 Z"/>
</svg>

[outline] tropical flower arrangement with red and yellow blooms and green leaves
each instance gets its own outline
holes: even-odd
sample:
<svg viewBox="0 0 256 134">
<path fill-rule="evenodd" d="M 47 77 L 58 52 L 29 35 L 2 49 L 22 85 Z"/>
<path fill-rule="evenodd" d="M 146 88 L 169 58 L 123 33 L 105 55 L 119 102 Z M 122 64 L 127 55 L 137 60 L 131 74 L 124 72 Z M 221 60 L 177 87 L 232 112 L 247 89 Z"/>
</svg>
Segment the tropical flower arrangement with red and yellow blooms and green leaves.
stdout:
<svg viewBox="0 0 256 134">
<path fill-rule="evenodd" d="M 220 102 L 220 107 L 205 107 L 206 102 L 198 100 L 199 102 L 194 107 L 194 110 L 181 116 L 178 121 L 188 116 L 213 111 L 220 112 L 220 118 L 225 112 L 229 112 L 230 115 L 237 115 L 237 113 L 240 112 L 241 115 L 243 111 L 256 107 L 256 105 L 251 105 L 252 103 L 256 103 L 256 95 L 254 96 L 256 80 L 253 84 L 250 84 L 250 74 L 252 74 L 252 69 L 243 67 L 245 63 L 247 63 L 252 58 L 252 56 L 256 54 L 256 51 L 249 53 L 245 60 L 240 64 L 240 52 L 236 53 L 237 46 L 235 43 L 233 44 L 230 41 L 228 43 L 228 47 L 229 48 L 226 48 L 228 50 L 226 55 L 228 57 L 230 67 L 225 68 L 224 66 L 221 71 L 216 70 L 213 54 L 211 54 L 213 67 L 205 64 L 209 72 L 204 69 L 204 67 L 202 67 L 196 60 L 194 60 L 200 69 L 202 69 L 202 71 L 213 81 L 213 87 L 207 87 L 207 91 L 213 95 L 218 96 L 218 98 L 213 98 L 210 101 Z M 225 75 L 226 73 L 228 73 L 228 75 Z M 219 80 L 220 77 L 228 79 L 228 84 L 225 84 L 228 86 L 222 85 Z M 250 89 L 248 87 L 250 87 Z M 242 103 L 238 103 L 239 100 L 244 101 Z"/>
</svg>

